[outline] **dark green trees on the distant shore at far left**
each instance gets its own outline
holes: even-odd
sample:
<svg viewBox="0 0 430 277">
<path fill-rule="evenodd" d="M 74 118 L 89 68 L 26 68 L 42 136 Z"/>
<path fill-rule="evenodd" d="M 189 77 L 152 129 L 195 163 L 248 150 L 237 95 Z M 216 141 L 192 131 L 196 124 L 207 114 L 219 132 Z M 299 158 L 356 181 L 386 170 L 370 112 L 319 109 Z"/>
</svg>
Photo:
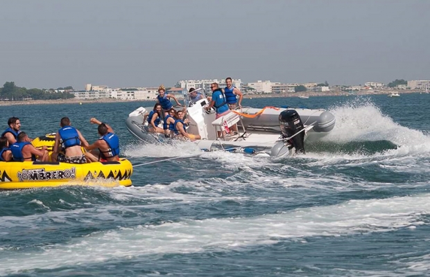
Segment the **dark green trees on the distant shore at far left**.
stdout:
<svg viewBox="0 0 430 277">
<path fill-rule="evenodd" d="M 32 98 L 33 100 L 54 100 L 74 97 L 74 94 L 68 92 L 56 93 L 53 90 L 48 91 L 46 89 L 26 89 L 25 87 L 17 87 L 15 82 L 6 82 L 3 84 L 3 87 L 0 88 L 0 100 L 22 100 L 24 98 Z"/>
</svg>

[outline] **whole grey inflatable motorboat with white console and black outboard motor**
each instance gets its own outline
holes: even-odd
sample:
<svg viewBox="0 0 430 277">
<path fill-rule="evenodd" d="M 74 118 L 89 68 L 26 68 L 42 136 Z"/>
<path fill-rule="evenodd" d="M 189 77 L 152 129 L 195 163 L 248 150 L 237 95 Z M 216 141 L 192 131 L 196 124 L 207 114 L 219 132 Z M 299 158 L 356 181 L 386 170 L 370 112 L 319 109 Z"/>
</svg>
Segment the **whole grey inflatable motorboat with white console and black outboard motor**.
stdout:
<svg viewBox="0 0 430 277">
<path fill-rule="evenodd" d="M 291 109 L 243 107 L 216 119 L 214 110 L 206 111 L 207 98 L 187 105 L 189 127 L 187 133 L 198 134 L 194 141 L 201 150 L 228 150 L 255 154 L 267 152 L 272 157 L 304 153 L 304 140 L 318 141 L 336 123 L 333 114 L 325 109 Z M 148 132 L 144 115 L 152 108 L 139 107 L 126 119 L 128 131 L 146 143 L 164 143 L 164 134 Z M 238 132 L 219 137 L 221 131 L 238 126 Z M 162 127 L 162 123 L 160 123 Z"/>
</svg>

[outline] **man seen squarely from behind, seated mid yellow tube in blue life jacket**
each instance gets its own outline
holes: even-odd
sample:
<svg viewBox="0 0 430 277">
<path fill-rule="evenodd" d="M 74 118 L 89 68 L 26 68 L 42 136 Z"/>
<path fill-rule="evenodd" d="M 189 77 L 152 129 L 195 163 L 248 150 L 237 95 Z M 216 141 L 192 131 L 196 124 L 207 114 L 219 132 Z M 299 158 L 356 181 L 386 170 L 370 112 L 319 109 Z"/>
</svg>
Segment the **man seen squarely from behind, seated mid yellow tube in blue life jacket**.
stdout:
<svg viewBox="0 0 430 277">
<path fill-rule="evenodd" d="M 55 143 L 52 161 L 64 163 L 87 163 L 82 147 L 88 145 L 87 140 L 79 130 L 71 126 L 70 118 L 63 117 L 60 120 L 60 129 L 55 134 Z"/>
</svg>

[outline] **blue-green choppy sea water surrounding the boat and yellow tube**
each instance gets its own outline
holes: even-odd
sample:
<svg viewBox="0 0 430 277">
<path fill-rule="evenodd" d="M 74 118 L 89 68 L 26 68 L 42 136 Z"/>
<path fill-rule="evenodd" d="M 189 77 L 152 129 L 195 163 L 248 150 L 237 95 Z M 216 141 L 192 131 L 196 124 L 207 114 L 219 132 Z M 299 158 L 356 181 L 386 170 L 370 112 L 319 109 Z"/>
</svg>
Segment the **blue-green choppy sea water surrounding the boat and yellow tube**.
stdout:
<svg viewBox="0 0 430 277">
<path fill-rule="evenodd" d="M 428 94 L 254 98 L 325 108 L 336 127 L 306 155 L 271 159 L 142 144 L 128 114 L 153 102 L 0 107 L 31 137 L 69 116 L 119 134 L 130 188 L 0 191 L 0 276 L 428 276 Z"/>
</svg>

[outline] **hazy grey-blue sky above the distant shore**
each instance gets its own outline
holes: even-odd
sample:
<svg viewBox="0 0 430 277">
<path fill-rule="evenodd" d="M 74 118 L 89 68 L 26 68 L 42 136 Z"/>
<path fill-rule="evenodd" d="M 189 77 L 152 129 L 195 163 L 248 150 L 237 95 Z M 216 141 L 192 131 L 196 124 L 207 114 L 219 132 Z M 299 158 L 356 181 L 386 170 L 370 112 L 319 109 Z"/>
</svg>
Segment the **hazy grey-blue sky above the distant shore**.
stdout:
<svg viewBox="0 0 430 277">
<path fill-rule="evenodd" d="M 430 79 L 427 0 L 6 0 L 0 87 Z"/>
</svg>

